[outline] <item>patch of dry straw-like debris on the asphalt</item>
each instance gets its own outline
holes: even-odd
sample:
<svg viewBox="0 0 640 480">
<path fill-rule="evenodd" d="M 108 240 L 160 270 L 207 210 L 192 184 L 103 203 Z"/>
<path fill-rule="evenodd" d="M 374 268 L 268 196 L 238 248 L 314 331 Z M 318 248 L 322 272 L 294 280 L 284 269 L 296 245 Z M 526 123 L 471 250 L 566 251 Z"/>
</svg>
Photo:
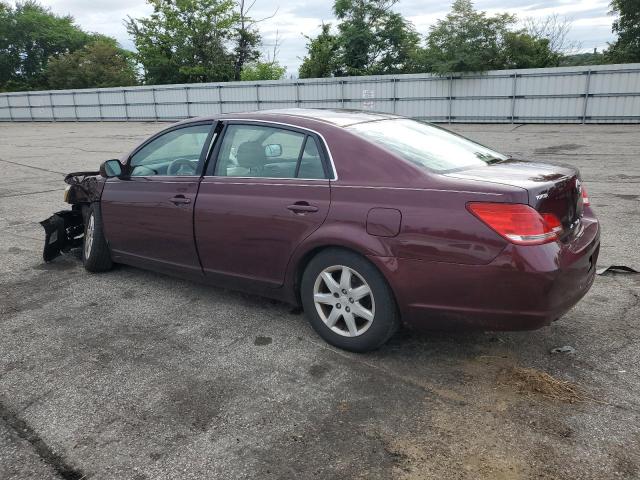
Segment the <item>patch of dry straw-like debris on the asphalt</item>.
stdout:
<svg viewBox="0 0 640 480">
<path fill-rule="evenodd" d="M 516 387 L 519 393 L 540 394 L 565 403 L 584 402 L 587 398 L 574 383 L 559 380 L 535 368 L 512 367 L 502 370 L 498 383 Z"/>
</svg>

